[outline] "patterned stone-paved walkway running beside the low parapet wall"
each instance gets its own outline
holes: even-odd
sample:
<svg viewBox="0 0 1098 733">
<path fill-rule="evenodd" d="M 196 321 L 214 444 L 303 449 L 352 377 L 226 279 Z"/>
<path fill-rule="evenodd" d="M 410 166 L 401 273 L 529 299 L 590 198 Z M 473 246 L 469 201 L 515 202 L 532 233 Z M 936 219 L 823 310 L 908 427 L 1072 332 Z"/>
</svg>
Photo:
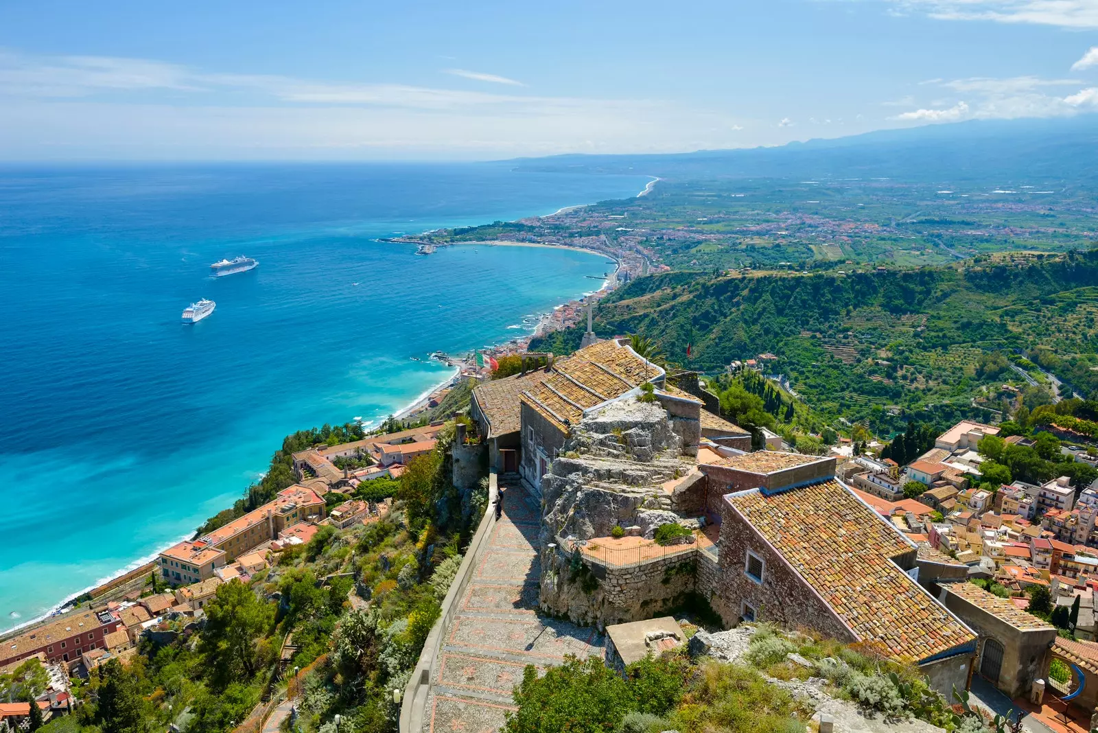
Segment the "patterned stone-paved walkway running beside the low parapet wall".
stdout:
<svg viewBox="0 0 1098 733">
<path fill-rule="evenodd" d="M 544 669 L 565 654 L 602 656 L 594 629 L 540 617 L 535 543 L 540 511 L 517 483 L 501 481 L 503 518 L 446 629 L 424 715 L 425 733 L 492 733 L 514 710 L 511 697 L 526 665 Z M 490 507 L 491 511 L 492 508 Z"/>
</svg>

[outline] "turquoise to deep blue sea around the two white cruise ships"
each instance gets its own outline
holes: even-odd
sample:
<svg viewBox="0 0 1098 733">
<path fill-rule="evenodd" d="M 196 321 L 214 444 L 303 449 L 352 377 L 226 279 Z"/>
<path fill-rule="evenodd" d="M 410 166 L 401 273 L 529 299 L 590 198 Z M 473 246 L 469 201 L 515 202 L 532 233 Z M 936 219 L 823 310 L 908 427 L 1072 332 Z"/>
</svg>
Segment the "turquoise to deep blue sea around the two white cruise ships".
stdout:
<svg viewBox="0 0 1098 733">
<path fill-rule="evenodd" d="M 0 629 L 193 532 L 284 435 L 383 418 L 449 375 L 412 357 L 513 338 L 606 270 L 377 237 L 646 182 L 506 163 L 0 169 Z M 260 264 L 209 275 L 236 255 Z M 214 314 L 182 325 L 201 297 Z"/>
</svg>

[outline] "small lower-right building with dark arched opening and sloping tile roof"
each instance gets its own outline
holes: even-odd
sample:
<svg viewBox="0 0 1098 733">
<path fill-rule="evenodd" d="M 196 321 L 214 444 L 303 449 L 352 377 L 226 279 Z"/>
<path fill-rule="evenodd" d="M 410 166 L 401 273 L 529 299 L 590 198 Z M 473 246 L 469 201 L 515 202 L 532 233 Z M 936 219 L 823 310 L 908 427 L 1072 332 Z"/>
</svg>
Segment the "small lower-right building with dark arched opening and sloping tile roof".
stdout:
<svg viewBox="0 0 1098 733">
<path fill-rule="evenodd" d="M 1028 697 L 1047 674 L 1056 628 L 972 583 L 942 585 L 941 600 L 979 634 L 976 669 L 1009 697 Z"/>
</svg>

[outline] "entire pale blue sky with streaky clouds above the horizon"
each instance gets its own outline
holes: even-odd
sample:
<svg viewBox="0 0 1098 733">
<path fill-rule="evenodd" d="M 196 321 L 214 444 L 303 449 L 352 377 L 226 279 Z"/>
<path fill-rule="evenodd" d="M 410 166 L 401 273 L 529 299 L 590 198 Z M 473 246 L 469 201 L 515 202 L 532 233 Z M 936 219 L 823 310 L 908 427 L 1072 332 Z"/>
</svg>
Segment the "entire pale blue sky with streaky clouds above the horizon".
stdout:
<svg viewBox="0 0 1098 733">
<path fill-rule="evenodd" d="M 0 4 L 0 159 L 490 159 L 1098 110 L 1098 0 Z"/>
</svg>

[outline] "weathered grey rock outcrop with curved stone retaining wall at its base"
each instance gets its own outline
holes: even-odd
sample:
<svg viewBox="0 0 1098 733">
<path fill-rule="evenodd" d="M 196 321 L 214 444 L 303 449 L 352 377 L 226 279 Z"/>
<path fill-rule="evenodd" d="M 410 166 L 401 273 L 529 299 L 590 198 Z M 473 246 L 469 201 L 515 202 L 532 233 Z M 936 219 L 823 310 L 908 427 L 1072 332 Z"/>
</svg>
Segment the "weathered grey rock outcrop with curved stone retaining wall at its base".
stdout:
<svg viewBox="0 0 1098 733">
<path fill-rule="evenodd" d="M 572 428 L 541 482 L 545 610 L 581 623 L 634 621 L 694 589 L 693 555 L 623 567 L 586 564 L 565 550 L 618 526 L 651 539 L 660 525 L 682 519 L 663 487 L 694 469 L 680 432 L 659 404 L 637 399 L 608 405 Z"/>
</svg>

